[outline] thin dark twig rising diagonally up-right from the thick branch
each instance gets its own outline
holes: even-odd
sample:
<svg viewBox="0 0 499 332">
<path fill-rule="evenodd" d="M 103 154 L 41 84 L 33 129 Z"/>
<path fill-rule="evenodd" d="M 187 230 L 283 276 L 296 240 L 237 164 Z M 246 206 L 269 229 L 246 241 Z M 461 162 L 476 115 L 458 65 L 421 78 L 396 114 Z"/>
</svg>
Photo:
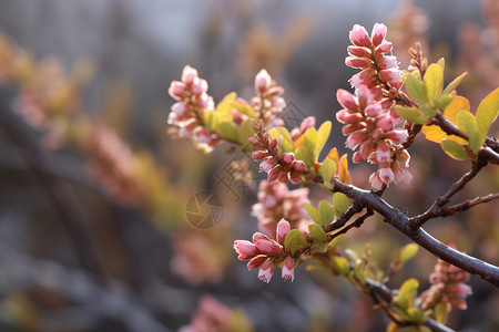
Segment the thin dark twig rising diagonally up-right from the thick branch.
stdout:
<svg viewBox="0 0 499 332">
<path fill-rule="evenodd" d="M 455 183 L 446 194 L 438 197 L 426 212 L 410 219 L 410 228 L 416 230 L 429 219 L 442 216 L 445 217 L 446 215 L 442 215 L 444 209 L 441 209 L 441 207 L 448 204 L 450 201 L 450 198 L 452 198 L 454 195 L 460 191 L 486 165 L 487 162 L 483 158 L 478 158 L 478 160 L 473 163 L 471 170 L 469 170 L 457 183 Z"/>
</svg>

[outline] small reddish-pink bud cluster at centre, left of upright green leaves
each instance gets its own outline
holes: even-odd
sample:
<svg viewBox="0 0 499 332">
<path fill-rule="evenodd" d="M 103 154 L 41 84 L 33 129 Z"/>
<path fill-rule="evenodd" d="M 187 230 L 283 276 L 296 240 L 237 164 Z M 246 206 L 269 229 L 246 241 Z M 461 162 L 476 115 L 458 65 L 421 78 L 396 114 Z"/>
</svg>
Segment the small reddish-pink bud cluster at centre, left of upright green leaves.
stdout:
<svg viewBox="0 0 499 332">
<path fill-rule="evenodd" d="M 277 138 L 271 141 L 261 124 L 255 126 L 255 136 L 249 137 L 248 141 L 256 149 L 252 153 L 252 158 L 263 160 L 259 169 L 268 174 L 268 183 L 275 180 L 283 184 L 288 180 L 293 184 L 299 183 L 302 173 L 307 168 L 305 162 L 296 160 L 293 153 L 284 153 L 279 156 Z"/>
</svg>

